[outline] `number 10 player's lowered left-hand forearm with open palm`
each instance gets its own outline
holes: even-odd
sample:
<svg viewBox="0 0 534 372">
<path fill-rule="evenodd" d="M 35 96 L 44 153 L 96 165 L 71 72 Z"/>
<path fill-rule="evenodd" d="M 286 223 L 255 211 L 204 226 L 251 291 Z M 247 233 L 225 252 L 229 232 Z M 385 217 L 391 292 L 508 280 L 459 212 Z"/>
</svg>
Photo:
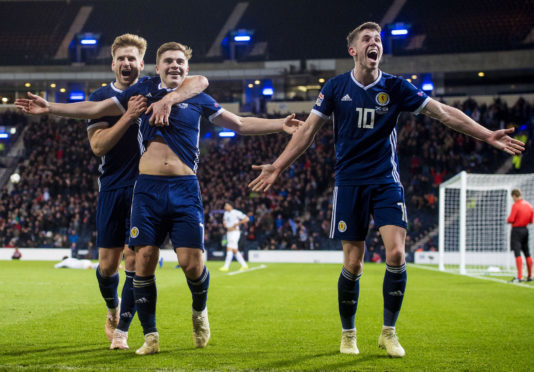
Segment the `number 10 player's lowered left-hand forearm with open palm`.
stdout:
<svg viewBox="0 0 534 372">
<path fill-rule="evenodd" d="M 248 187 L 252 191 L 267 191 L 276 181 L 280 173 L 289 167 L 297 158 L 310 147 L 315 134 L 319 131 L 325 120 L 314 113 L 311 113 L 306 122 L 300 127 L 286 148 L 273 164 L 253 165 L 252 169 L 261 170 L 260 175 L 249 183 Z"/>
</svg>

